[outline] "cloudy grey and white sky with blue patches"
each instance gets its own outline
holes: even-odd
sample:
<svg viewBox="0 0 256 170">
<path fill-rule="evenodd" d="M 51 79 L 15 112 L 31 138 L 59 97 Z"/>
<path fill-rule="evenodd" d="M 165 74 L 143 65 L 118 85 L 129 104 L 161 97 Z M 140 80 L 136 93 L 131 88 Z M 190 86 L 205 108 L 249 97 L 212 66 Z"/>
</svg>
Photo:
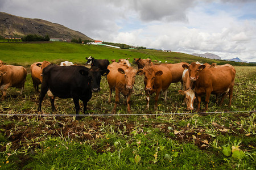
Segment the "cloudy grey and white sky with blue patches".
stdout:
<svg viewBox="0 0 256 170">
<path fill-rule="evenodd" d="M 0 0 L 0 11 L 40 18 L 95 40 L 256 62 L 254 0 Z"/>
</svg>

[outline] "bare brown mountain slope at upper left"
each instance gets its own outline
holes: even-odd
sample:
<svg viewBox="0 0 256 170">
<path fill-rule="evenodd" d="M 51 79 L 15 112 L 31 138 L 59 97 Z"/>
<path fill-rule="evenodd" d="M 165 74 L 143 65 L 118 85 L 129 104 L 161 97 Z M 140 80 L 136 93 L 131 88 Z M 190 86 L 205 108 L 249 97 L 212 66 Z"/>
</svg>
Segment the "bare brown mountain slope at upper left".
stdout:
<svg viewBox="0 0 256 170">
<path fill-rule="evenodd" d="M 29 34 L 61 39 L 92 40 L 79 31 L 42 19 L 30 19 L 0 12 L 0 36 L 23 37 Z"/>
</svg>

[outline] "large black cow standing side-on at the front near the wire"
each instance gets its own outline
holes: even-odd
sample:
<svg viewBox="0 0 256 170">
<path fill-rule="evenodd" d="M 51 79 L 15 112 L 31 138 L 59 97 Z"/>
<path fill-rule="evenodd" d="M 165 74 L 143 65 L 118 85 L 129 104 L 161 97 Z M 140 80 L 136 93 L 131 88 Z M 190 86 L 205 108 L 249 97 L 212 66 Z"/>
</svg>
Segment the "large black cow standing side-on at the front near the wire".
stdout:
<svg viewBox="0 0 256 170">
<path fill-rule="evenodd" d="M 101 70 L 98 67 L 88 69 L 84 66 L 47 66 L 43 69 L 38 111 L 41 111 L 43 98 L 50 90 L 54 96 L 62 99 L 73 98 L 76 114 L 79 114 L 79 99 L 82 100 L 85 113 L 87 102 L 92 98 L 92 92 L 100 91 L 101 75 L 108 73 L 108 69 Z M 50 100 L 52 111 L 56 111 L 54 97 Z M 79 117 L 76 116 L 76 119 Z"/>
</svg>

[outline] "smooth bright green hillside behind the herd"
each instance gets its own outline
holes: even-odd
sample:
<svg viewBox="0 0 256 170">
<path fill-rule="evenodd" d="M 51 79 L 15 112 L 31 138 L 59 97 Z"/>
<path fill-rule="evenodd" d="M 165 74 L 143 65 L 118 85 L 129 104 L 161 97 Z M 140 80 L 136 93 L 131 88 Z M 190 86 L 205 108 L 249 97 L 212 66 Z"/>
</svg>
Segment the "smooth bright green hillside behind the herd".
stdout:
<svg viewBox="0 0 256 170">
<path fill-rule="evenodd" d="M 224 61 L 216 59 L 207 59 L 189 54 L 177 52 L 162 52 L 159 50 L 133 50 L 116 49 L 100 45 L 82 45 L 68 42 L 43 42 L 43 43 L 0 43 L 1 60 L 9 65 L 31 65 L 37 61 L 49 61 L 58 63 L 60 61 L 72 61 L 73 63 L 85 63 L 85 57 L 92 56 L 97 59 L 119 59 L 130 58 L 151 58 L 168 63 L 193 62 L 201 63 L 216 62 L 223 64 Z M 228 63 L 228 62 L 225 62 Z M 229 62 L 230 63 L 230 62 Z M 234 62 L 231 62 L 234 65 Z M 235 63 L 241 64 L 241 63 Z M 248 65 L 243 63 L 243 65 Z"/>
</svg>

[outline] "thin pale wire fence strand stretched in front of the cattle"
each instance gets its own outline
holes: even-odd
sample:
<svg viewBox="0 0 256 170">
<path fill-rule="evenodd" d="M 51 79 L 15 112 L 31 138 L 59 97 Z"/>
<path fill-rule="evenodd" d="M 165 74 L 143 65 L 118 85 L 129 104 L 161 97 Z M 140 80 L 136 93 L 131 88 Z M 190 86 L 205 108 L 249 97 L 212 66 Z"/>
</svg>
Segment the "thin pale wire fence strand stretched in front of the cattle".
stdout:
<svg viewBox="0 0 256 170">
<path fill-rule="evenodd" d="M 247 112 L 256 112 L 256 111 L 233 111 L 233 112 L 188 112 L 188 113 L 143 113 L 143 114 L 0 114 L 0 116 L 162 116 L 162 115 L 181 115 L 181 114 L 212 114 L 212 113 L 247 113 Z"/>
</svg>

